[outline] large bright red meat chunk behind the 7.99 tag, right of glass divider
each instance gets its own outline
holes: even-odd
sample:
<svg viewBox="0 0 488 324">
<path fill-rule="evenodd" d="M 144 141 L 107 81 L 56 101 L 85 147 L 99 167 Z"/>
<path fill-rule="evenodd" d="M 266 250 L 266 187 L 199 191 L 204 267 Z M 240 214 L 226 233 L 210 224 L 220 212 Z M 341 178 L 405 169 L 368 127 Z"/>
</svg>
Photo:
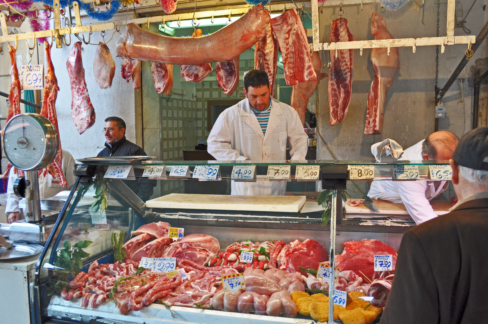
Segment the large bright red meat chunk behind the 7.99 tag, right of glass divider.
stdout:
<svg viewBox="0 0 488 324">
<path fill-rule="evenodd" d="M 335 257 L 335 266 L 344 270 L 353 270 L 361 276 L 365 282 L 366 277 L 373 279 L 374 255 L 391 254 L 393 256 L 393 269 L 395 269 L 397 254 L 389 245 L 378 240 L 347 241 L 344 243 L 344 251 Z M 361 273 L 364 273 L 364 275 Z M 365 277 L 366 275 L 366 277 Z"/>
</svg>

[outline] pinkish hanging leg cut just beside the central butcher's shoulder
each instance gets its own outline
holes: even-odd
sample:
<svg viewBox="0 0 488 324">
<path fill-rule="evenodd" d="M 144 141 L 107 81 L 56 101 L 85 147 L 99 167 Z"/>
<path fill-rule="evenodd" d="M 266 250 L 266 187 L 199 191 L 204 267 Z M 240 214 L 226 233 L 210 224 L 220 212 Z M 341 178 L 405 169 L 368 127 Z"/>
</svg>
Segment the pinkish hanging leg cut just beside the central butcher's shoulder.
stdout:
<svg viewBox="0 0 488 324">
<path fill-rule="evenodd" d="M 312 55 L 312 64 L 315 74 L 317 75 L 317 81 L 300 82 L 295 84 L 293 86 L 293 90 L 291 91 L 291 106 L 297 111 L 298 116 L 300 117 L 300 120 L 304 126 L 308 100 L 313 95 L 317 85 L 319 85 L 319 82 L 327 76 L 327 73 L 320 72 L 322 69 L 322 61 L 320 61 L 319 54 L 317 54 L 317 52 L 313 52 Z"/>
</svg>

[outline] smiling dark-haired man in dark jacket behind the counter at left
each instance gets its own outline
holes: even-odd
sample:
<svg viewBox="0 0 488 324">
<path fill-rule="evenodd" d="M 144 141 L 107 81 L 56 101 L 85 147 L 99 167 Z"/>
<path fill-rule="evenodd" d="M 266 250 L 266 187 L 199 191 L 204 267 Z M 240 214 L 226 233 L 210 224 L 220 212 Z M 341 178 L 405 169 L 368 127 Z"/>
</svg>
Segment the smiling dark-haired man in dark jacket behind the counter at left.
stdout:
<svg viewBox="0 0 488 324">
<path fill-rule="evenodd" d="M 125 138 L 125 121 L 120 117 L 108 117 L 105 119 L 103 127 L 105 135 L 105 148 L 97 156 L 144 156 L 147 155 L 144 150 L 127 141 Z M 138 174 L 141 173 L 141 174 Z M 156 185 L 155 180 L 140 178 L 141 169 L 134 169 L 137 177 L 136 181 L 124 181 L 124 183 L 145 203 L 153 194 L 153 188 Z"/>
</svg>

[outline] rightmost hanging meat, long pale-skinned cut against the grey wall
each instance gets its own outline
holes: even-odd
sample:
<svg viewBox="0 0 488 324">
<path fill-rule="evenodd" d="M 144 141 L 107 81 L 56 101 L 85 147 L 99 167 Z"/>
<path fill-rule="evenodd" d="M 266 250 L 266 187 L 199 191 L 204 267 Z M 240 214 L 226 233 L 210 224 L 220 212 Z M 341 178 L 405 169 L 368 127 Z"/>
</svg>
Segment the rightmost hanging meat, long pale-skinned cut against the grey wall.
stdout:
<svg viewBox="0 0 488 324">
<path fill-rule="evenodd" d="M 375 12 L 373 12 L 371 19 L 371 35 L 374 36 L 375 40 L 393 39 L 393 36 L 386 29 L 385 20 Z M 390 52 L 389 55 L 388 52 Z M 399 67 L 398 47 L 372 48 L 371 63 L 374 67 L 374 79 L 367 97 L 365 134 L 381 134 L 383 132 L 386 94 Z"/>
</svg>

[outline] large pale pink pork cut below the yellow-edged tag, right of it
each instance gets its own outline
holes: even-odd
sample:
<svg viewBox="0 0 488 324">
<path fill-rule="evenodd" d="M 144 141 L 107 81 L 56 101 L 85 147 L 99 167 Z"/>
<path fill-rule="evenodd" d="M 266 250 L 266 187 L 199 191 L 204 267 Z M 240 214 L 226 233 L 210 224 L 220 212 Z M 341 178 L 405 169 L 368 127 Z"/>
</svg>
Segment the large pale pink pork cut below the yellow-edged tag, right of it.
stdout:
<svg viewBox="0 0 488 324">
<path fill-rule="evenodd" d="M 176 262 L 187 259 L 203 264 L 219 254 L 220 244 L 216 238 L 206 234 L 186 235 L 182 240 L 171 243 L 164 257 L 174 258 Z"/>
</svg>

